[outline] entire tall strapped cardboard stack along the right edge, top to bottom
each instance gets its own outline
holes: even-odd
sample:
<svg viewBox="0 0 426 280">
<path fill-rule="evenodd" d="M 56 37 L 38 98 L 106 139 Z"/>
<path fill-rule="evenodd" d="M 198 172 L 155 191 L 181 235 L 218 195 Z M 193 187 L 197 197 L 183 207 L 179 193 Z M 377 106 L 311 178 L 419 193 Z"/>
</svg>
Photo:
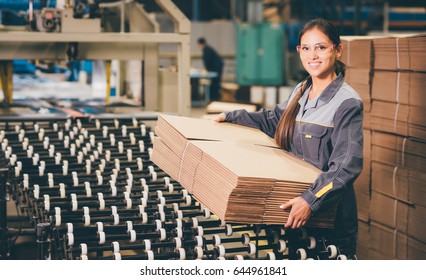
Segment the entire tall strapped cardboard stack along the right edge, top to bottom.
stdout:
<svg viewBox="0 0 426 280">
<path fill-rule="evenodd" d="M 374 40 L 371 258 L 426 258 L 425 45 L 426 34 Z"/>
</svg>

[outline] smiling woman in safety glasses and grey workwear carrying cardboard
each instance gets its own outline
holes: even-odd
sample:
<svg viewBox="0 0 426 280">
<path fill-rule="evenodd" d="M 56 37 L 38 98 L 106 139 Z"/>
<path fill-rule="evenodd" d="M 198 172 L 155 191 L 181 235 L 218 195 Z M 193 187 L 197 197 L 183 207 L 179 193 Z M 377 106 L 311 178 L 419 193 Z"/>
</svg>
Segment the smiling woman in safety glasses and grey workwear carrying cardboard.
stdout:
<svg viewBox="0 0 426 280">
<path fill-rule="evenodd" d="M 297 51 L 309 76 L 288 101 L 273 110 L 221 113 L 215 121 L 258 128 L 284 150 L 321 169 L 301 196 L 283 201 L 280 208 L 290 210 L 285 226 L 300 228 L 321 209 L 337 205 L 328 238 L 339 240 L 341 253 L 353 259 L 358 235 L 353 182 L 362 169 L 363 104 L 344 81 L 345 66 L 338 60 L 343 46 L 330 22 L 309 21 L 300 32 Z"/>
</svg>

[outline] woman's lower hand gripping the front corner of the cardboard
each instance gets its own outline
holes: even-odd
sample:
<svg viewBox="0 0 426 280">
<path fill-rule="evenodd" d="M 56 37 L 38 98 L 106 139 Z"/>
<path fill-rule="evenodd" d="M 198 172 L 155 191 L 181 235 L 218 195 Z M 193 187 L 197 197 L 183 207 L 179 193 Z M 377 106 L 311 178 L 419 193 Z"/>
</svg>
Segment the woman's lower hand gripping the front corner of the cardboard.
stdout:
<svg viewBox="0 0 426 280">
<path fill-rule="evenodd" d="M 311 207 L 301 196 L 290 199 L 280 206 L 281 209 L 290 209 L 290 215 L 285 223 L 285 227 L 300 228 L 306 224 L 311 216 Z"/>
</svg>

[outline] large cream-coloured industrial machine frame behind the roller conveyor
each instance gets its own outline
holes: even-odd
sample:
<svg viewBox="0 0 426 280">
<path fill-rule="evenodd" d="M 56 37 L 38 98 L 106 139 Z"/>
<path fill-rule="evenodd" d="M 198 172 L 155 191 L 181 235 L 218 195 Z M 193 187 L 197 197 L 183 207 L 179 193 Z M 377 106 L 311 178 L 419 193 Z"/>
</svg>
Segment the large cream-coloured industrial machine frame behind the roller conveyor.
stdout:
<svg viewBox="0 0 426 280">
<path fill-rule="evenodd" d="M 73 3 L 70 3 L 73 2 Z M 14 59 L 76 61 L 101 60 L 106 65 L 109 102 L 111 61 L 139 60 L 142 67 L 142 107 L 157 111 L 158 101 L 158 45 L 176 44 L 178 83 L 177 113 L 188 115 L 190 109 L 190 22 L 171 0 L 157 0 L 157 4 L 175 22 L 174 33 L 160 33 L 158 24 L 132 0 L 125 1 L 66 1 L 64 7 L 45 7 L 28 14 L 29 30 L 0 33 L 0 76 L 5 101 L 12 103 L 12 69 Z M 73 4 L 73 6 L 71 5 Z M 118 81 L 124 91 L 125 67 Z M 120 87 L 121 85 L 121 87 Z"/>
</svg>

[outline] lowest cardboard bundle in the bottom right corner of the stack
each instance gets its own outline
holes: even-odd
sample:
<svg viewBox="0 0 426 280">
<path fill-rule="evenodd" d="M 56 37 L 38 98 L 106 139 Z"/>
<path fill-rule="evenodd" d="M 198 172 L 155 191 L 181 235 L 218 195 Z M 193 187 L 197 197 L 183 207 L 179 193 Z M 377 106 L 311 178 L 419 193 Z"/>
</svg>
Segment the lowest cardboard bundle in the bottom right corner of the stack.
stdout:
<svg viewBox="0 0 426 280">
<path fill-rule="evenodd" d="M 426 243 L 380 223 L 370 223 L 370 260 L 424 260 Z"/>
</svg>

